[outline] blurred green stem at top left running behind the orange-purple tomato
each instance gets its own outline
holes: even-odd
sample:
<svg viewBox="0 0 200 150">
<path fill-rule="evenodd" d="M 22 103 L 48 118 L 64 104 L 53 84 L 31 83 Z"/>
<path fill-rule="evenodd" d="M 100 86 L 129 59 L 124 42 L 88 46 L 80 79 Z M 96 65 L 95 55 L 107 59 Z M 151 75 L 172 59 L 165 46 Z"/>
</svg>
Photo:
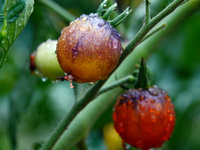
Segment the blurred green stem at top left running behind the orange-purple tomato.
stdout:
<svg viewBox="0 0 200 150">
<path fill-rule="evenodd" d="M 62 17 L 67 23 L 70 23 L 76 18 L 74 15 L 66 11 L 63 7 L 61 7 L 52 0 L 36 0 L 36 2 L 44 5 L 46 8 L 55 12 L 57 15 Z"/>
</svg>

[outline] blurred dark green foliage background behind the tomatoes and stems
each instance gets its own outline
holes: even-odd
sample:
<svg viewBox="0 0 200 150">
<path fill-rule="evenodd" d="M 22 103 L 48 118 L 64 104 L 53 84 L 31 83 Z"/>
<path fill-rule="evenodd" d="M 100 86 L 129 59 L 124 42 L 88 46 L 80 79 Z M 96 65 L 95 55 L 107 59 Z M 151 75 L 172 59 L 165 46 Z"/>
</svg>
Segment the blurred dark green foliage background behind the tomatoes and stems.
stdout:
<svg viewBox="0 0 200 150">
<path fill-rule="evenodd" d="M 123 1 L 119 1 L 122 10 L 126 7 L 122 5 Z M 152 16 L 171 1 L 150 0 Z M 100 0 L 55 2 L 78 17 L 94 13 Z M 144 19 L 143 3 L 135 3 L 136 0 L 130 3 L 133 13 L 125 21 L 125 28 L 117 28 L 124 43 L 135 35 Z M 65 20 L 36 1 L 28 24 L 10 48 L 7 60 L 0 69 L 0 150 L 36 149 L 73 105 L 74 91 L 68 82 L 52 83 L 33 76 L 29 70 L 31 53 L 47 39 L 58 39 L 65 26 Z M 200 10 L 188 15 L 151 46 L 152 53 L 147 58 L 147 64 L 153 72 L 153 84 L 168 91 L 177 117 L 170 141 L 160 150 L 200 149 L 199 35 Z M 95 123 L 86 138 L 89 150 L 107 149 L 103 128 L 112 122 L 111 115 L 112 107 Z"/>
</svg>

